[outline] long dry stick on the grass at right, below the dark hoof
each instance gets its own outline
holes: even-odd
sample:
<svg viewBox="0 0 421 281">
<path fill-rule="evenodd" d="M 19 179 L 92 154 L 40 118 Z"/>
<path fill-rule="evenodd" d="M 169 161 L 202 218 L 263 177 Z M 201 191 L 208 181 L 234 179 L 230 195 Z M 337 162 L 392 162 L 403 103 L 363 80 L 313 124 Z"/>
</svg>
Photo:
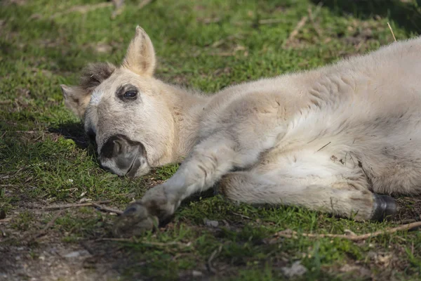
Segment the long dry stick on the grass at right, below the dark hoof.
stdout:
<svg viewBox="0 0 421 281">
<path fill-rule="evenodd" d="M 370 237 L 376 237 L 382 234 L 391 234 L 391 233 L 396 233 L 397 231 L 401 231 L 401 230 L 410 230 L 413 228 L 417 228 L 419 226 L 421 226 L 421 221 L 417 221 L 416 223 L 404 224 L 402 226 L 397 226 L 396 228 L 388 228 L 386 230 L 375 231 L 374 233 L 366 233 L 363 235 L 313 234 L 313 233 L 298 233 L 293 230 L 283 230 L 283 231 L 279 231 L 278 233 L 275 233 L 274 236 L 286 237 L 286 238 L 298 238 L 298 236 L 313 237 L 313 238 L 330 237 L 330 238 L 344 238 L 344 239 L 348 239 L 352 241 L 359 241 L 359 240 L 365 240 Z"/>
</svg>

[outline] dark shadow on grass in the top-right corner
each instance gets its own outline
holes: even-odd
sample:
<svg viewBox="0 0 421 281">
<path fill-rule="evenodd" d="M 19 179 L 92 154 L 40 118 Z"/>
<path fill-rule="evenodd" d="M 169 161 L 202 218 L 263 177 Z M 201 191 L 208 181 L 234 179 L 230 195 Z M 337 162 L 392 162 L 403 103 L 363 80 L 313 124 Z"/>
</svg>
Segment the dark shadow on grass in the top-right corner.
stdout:
<svg viewBox="0 0 421 281">
<path fill-rule="evenodd" d="M 352 14 L 356 18 L 373 18 L 380 15 L 390 18 L 396 25 L 408 33 L 421 32 L 421 9 L 415 4 L 405 3 L 401 0 L 311 0 L 314 4 L 323 3 L 340 15 Z M 421 0 L 417 0 L 421 5 Z"/>
</svg>

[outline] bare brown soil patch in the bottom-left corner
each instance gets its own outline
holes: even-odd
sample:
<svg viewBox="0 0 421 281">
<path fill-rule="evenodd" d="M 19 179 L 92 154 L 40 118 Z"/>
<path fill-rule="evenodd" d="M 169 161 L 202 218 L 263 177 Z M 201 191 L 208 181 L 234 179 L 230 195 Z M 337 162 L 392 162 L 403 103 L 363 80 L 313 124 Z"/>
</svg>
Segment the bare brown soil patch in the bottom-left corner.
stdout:
<svg viewBox="0 0 421 281">
<path fill-rule="evenodd" d="M 30 210 L 31 219 L 19 223 L 19 214 Z M 69 210 L 78 216 L 77 209 Z M 40 211 L 32 204 L 0 220 L 0 280 L 116 280 L 124 264 L 117 245 L 96 242 L 94 234 L 79 242 L 63 242 L 65 233 L 46 229 L 63 211 Z M 50 221 L 46 220 L 50 218 Z M 41 223 L 46 221 L 46 223 Z"/>
</svg>

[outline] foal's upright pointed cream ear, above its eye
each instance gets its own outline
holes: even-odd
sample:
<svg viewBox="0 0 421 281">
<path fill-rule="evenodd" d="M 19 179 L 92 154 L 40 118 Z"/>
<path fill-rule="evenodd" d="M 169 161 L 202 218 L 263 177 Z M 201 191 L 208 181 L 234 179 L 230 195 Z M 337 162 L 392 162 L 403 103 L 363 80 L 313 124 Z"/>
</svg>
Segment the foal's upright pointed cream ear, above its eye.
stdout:
<svg viewBox="0 0 421 281">
<path fill-rule="evenodd" d="M 123 67 L 140 75 L 152 76 L 155 70 L 155 51 L 152 41 L 145 30 L 139 25 L 136 27 L 135 37 L 128 45 Z"/>
</svg>

